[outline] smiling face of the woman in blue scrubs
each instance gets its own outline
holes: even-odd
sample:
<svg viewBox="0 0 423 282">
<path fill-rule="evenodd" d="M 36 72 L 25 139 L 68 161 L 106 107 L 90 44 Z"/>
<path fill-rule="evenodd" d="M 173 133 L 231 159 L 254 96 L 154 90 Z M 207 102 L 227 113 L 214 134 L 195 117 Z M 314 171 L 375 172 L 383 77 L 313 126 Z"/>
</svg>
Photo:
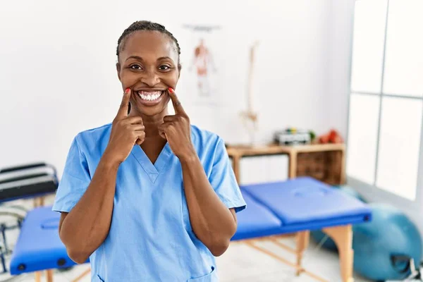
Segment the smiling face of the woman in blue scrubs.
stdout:
<svg viewBox="0 0 423 282">
<path fill-rule="evenodd" d="M 131 115 L 155 116 L 166 109 L 168 87 L 179 78 L 174 42 L 157 31 L 133 32 L 123 42 L 117 70 L 123 90 L 130 88 Z"/>
</svg>

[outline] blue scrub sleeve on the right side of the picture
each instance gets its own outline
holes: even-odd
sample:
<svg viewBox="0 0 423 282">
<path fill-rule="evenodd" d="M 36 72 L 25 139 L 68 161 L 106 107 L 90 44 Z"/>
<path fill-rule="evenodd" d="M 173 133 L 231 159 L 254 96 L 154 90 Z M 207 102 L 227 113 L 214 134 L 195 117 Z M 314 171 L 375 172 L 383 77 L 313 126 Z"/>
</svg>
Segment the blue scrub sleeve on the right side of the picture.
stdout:
<svg viewBox="0 0 423 282">
<path fill-rule="evenodd" d="M 240 212 L 247 207 L 236 181 L 225 144 L 220 137 L 216 144 L 209 181 L 226 207 L 234 208 L 235 212 Z"/>
</svg>

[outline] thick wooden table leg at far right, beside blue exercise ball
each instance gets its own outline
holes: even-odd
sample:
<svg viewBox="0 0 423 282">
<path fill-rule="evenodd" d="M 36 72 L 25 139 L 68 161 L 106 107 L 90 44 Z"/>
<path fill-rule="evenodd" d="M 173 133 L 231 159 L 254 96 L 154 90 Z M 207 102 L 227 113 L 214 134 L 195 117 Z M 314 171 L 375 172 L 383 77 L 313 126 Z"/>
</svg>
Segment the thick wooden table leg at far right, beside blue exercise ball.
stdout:
<svg viewBox="0 0 423 282">
<path fill-rule="evenodd" d="M 353 227 L 351 225 L 336 226 L 324 228 L 323 231 L 332 238 L 338 247 L 342 281 L 353 282 Z"/>
</svg>

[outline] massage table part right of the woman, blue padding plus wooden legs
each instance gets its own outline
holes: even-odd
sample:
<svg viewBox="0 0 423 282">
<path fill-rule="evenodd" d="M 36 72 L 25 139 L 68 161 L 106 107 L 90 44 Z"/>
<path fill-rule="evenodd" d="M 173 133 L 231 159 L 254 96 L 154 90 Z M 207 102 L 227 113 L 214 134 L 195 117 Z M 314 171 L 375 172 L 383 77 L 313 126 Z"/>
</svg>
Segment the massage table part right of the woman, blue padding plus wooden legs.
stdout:
<svg viewBox="0 0 423 282">
<path fill-rule="evenodd" d="M 256 250 L 295 267 L 298 275 L 304 272 L 325 281 L 301 266 L 302 252 L 309 243 L 309 231 L 322 229 L 338 246 L 343 281 L 353 281 L 352 224 L 371 220 L 367 204 L 309 177 L 240 188 L 247 209 L 237 214 L 238 229 L 233 241 L 243 240 Z M 276 240 L 278 235 L 286 233 L 297 233 L 296 250 L 290 250 Z M 297 263 L 288 262 L 255 245 L 253 242 L 257 238 L 271 240 L 294 252 Z"/>
</svg>

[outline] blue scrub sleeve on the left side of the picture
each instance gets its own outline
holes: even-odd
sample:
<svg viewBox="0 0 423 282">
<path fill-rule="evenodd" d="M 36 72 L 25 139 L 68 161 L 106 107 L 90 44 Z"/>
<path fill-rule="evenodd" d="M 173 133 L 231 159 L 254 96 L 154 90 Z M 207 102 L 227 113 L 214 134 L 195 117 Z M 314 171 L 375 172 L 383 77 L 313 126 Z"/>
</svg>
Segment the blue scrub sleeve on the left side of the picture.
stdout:
<svg viewBox="0 0 423 282">
<path fill-rule="evenodd" d="M 87 159 L 80 152 L 78 135 L 73 139 L 71 148 L 66 158 L 63 175 L 59 181 L 56 198 L 53 204 L 55 212 L 71 212 L 78 203 L 88 185 L 91 177 L 88 170 Z"/>
</svg>

